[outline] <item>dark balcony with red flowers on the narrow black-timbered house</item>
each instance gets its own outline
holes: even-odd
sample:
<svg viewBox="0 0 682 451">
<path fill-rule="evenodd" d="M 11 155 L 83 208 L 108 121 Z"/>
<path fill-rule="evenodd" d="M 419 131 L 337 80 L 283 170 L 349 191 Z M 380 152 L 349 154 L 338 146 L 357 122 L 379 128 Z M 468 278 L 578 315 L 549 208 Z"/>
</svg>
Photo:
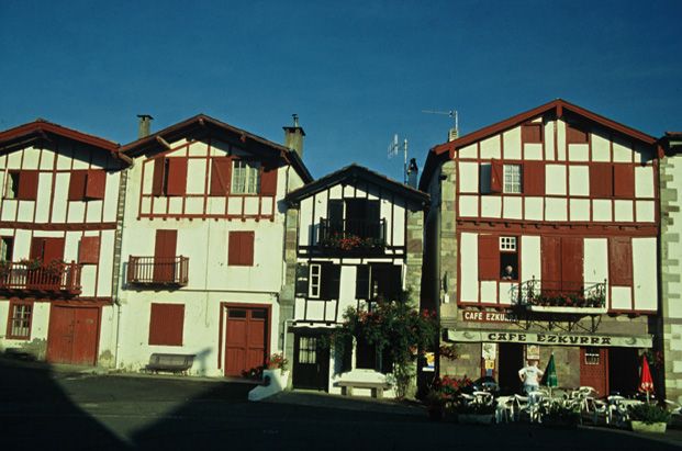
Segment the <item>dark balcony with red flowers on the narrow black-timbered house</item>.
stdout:
<svg viewBox="0 0 682 451">
<path fill-rule="evenodd" d="M 337 251 L 377 251 L 385 246 L 385 219 L 320 219 L 317 246 Z"/>
</svg>

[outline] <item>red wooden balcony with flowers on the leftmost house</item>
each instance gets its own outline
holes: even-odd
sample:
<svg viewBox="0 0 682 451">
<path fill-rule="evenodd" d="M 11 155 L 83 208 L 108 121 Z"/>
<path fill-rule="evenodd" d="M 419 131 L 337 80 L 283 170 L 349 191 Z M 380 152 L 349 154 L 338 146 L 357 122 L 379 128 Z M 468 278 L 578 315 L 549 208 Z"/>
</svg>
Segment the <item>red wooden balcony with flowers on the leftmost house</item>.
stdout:
<svg viewBox="0 0 682 451">
<path fill-rule="evenodd" d="M 80 264 L 54 260 L 0 262 L 0 292 L 5 294 L 43 294 L 75 296 L 80 294 Z"/>
</svg>

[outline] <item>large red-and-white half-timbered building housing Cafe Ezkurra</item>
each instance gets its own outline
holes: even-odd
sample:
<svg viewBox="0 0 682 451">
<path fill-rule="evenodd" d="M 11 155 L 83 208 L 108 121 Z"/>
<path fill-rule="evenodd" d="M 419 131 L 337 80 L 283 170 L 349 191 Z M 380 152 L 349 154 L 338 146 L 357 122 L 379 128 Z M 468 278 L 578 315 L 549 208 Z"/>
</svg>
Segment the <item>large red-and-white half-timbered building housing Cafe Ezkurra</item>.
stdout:
<svg viewBox="0 0 682 451">
<path fill-rule="evenodd" d="M 657 139 L 556 100 L 429 153 L 424 302 L 460 358 L 440 373 L 518 387 L 636 387 L 659 315 Z"/>
</svg>

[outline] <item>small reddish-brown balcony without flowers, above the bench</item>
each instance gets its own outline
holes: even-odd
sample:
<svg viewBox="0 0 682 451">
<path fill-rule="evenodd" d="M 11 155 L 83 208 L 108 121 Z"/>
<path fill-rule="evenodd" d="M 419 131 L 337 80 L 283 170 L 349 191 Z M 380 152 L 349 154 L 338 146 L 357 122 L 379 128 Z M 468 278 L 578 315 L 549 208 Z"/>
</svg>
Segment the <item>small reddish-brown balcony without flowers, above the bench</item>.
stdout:
<svg viewBox="0 0 682 451">
<path fill-rule="evenodd" d="M 128 284 L 186 286 L 189 257 L 134 257 L 127 261 Z"/>
</svg>

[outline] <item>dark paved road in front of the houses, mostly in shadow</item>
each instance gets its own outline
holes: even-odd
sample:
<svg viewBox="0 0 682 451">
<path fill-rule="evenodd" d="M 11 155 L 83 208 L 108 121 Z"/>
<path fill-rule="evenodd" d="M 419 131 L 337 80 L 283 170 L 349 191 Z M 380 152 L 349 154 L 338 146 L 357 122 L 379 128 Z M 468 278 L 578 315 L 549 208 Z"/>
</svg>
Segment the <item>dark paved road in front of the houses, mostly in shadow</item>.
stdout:
<svg viewBox="0 0 682 451">
<path fill-rule="evenodd" d="M 606 429 L 435 424 L 420 406 L 283 393 L 248 403 L 249 384 L 89 375 L 0 360 L 2 449 L 667 450 Z"/>
</svg>

